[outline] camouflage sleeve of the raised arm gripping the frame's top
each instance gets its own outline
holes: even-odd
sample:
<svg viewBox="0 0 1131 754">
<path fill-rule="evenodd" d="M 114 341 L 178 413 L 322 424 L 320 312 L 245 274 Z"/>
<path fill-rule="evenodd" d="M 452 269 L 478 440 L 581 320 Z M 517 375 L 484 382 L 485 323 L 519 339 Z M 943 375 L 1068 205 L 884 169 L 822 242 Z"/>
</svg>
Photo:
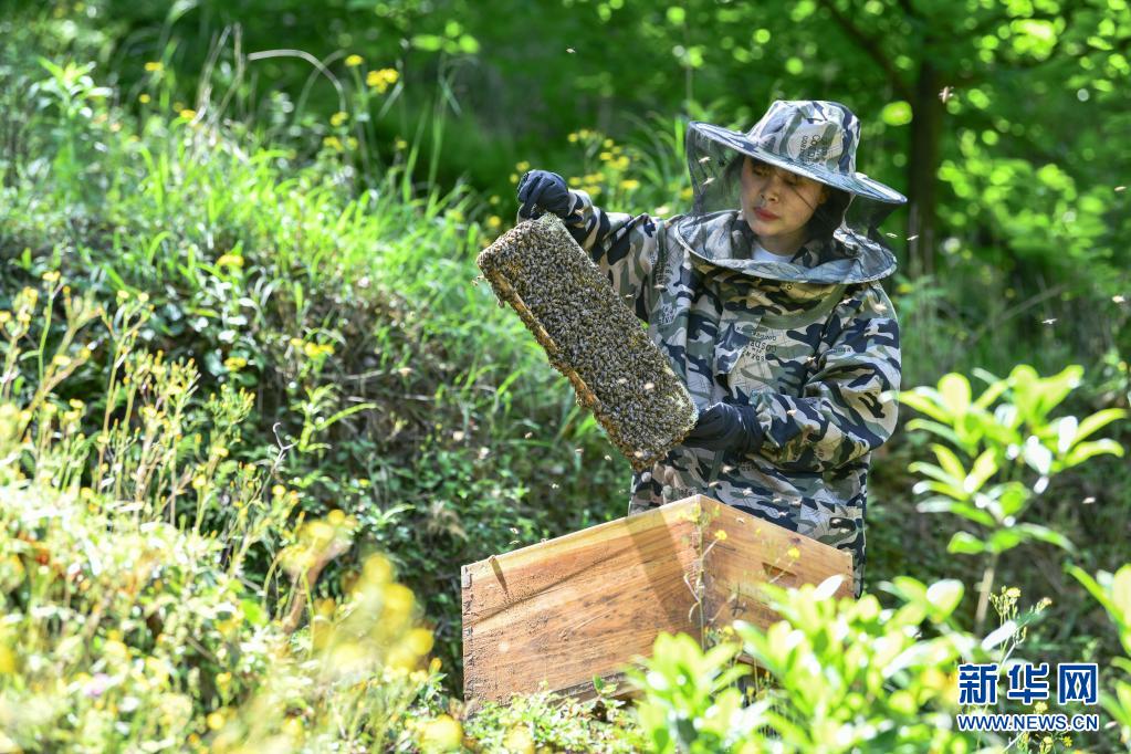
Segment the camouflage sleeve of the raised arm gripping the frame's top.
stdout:
<svg viewBox="0 0 1131 754">
<path fill-rule="evenodd" d="M 636 315 L 648 321 L 658 298 L 653 288 L 664 220 L 647 214 L 606 213 L 585 191 L 571 189 L 573 207 L 563 218 L 570 235 L 608 276 L 608 281 Z"/>
</svg>

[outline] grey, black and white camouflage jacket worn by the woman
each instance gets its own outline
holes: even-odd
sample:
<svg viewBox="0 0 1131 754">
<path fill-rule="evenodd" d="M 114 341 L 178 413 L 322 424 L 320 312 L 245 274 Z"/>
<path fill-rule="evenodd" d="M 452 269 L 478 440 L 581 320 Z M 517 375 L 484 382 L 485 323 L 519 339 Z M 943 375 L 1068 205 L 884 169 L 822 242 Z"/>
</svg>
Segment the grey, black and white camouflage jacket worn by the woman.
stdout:
<svg viewBox="0 0 1131 754">
<path fill-rule="evenodd" d="M 879 244 L 838 231 L 792 261 L 753 261 L 737 209 L 670 219 L 606 213 L 573 190 L 570 233 L 668 357 L 700 409 L 756 407 L 740 456 L 680 445 L 632 475 L 629 513 L 701 493 L 853 555 L 863 589 L 871 451 L 896 425 L 899 327 Z"/>
</svg>

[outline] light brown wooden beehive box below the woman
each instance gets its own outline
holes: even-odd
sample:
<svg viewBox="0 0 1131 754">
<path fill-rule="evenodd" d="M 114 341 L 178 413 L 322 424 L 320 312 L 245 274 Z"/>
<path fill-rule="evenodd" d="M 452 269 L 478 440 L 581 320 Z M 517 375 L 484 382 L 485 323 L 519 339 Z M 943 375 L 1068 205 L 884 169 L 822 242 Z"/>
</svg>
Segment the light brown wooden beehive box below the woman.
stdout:
<svg viewBox="0 0 1131 754">
<path fill-rule="evenodd" d="M 594 676 L 623 683 L 661 632 L 701 642 L 736 618 L 767 626 L 777 616 L 761 583 L 834 574 L 835 596 L 851 596 L 851 554 L 703 495 L 492 556 L 463 569 L 464 697 L 506 701 L 543 682 L 589 697 Z"/>
</svg>

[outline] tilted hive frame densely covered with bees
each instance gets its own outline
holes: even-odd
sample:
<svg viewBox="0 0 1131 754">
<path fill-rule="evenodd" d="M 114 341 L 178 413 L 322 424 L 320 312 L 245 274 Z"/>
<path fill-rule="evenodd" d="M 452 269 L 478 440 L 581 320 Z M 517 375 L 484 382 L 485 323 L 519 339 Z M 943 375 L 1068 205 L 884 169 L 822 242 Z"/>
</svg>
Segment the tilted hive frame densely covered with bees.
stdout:
<svg viewBox="0 0 1131 754">
<path fill-rule="evenodd" d="M 556 215 L 520 223 L 476 262 L 633 469 L 664 458 L 694 427 L 687 387 Z"/>
</svg>

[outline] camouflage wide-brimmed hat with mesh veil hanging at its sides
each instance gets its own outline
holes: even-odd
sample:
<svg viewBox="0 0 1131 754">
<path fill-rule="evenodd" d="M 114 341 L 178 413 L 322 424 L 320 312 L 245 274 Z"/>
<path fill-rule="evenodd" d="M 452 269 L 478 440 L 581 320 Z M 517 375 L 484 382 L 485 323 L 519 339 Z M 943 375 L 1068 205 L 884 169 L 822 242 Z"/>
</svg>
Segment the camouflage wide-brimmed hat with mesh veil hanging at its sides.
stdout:
<svg viewBox="0 0 1131 754">
<path fill-rule="evenodd" d="M 887 248 L 879 226 L 907 200 L 855 172 L 858 130 L 855 116 L 843 105 L 808 101 L 774 103 L 745 135 L 692 122 L 685 141 L 694 191 L 690 214 L 741 213 L 742 168 L 749 156 L 844 192 L 839 197 L 832 192 L 810 220 L 810 231 L 818 231 L 820 241 L 829 234 L 853 234 Z"/>
</svg>

